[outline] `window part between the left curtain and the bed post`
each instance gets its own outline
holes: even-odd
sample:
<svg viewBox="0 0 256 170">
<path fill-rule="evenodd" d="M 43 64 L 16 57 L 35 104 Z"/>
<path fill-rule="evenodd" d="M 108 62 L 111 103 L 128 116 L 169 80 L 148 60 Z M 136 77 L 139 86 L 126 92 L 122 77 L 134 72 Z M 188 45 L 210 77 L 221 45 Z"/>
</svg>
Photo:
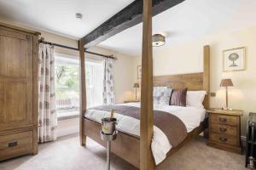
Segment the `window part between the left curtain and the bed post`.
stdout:
<svg viewBox="0 0 256 170">
<path fill-rule="evenodd" d="M 79 59 L 55 55 L 55 94 L 58 117 L 79 115 Z"/>
</svg>

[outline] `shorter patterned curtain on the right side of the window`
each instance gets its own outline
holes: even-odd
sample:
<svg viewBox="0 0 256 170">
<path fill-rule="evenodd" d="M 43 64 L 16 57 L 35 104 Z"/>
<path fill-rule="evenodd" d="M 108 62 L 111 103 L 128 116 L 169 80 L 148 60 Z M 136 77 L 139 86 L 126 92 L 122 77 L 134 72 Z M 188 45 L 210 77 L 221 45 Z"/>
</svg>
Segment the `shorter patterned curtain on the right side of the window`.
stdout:
<svg viewBox="0 0 256 170">
<path fill-rule="evenodd" d="M 113 59 L 103 59 L 103 63 L 103 104 L 110 105 L 115 103 L 115 94 L 113 88 Z"/>
</svg>

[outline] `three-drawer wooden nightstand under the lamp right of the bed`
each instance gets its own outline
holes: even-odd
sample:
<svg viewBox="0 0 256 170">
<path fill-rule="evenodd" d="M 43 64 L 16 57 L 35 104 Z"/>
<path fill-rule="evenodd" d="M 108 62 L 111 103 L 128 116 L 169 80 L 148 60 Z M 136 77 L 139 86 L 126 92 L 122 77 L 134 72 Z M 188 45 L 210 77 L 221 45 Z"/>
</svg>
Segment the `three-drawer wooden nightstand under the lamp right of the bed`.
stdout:
<svg viewBox="0 0 256 170">
<path fill-rule="evenodd" d="M 239 110 L 207 110 L 209 139 L 207 145 L 241 154 L 241 116 Z"/>
</svg>

